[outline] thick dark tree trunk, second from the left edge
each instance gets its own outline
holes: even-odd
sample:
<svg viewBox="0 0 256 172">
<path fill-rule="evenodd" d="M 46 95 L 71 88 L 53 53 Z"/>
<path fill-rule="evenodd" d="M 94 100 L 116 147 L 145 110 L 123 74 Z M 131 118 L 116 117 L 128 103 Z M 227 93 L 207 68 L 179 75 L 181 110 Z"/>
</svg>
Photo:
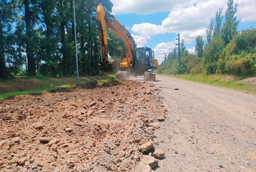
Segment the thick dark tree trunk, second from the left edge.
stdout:
<svg viewBox="0 0 256 172">
<path fill-rule="evenodd" d="M 36 76 L 36 64 L 35 59 L 33 57 L 32 44 L 30 38 L 32 36 L 31 32 L 31 14 L 29 11 L 29 3 L 28 0 L 24 0 L 25 7 L 25 24 L 26 24 L 26 53 L 28 59 L 28 76 Z"/>
</svg>

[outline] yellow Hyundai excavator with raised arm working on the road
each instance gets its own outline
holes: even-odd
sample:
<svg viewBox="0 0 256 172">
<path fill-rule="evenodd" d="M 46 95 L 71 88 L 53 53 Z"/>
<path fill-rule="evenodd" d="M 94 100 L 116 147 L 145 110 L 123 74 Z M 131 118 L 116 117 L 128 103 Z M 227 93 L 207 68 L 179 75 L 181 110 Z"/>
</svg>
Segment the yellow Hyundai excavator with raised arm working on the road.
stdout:
<svg viewBox="0 0 256 172">
<path fill-rule="evenodd" d="M 158 61 L 154 58 L 154 51 L 148 47 L 134 47 L 132 36 L 127 28 L 102 5 L 97 7 L 97 26 L 99 44 L 101 47 L 101 62 L 103 71 L 116 72 L 116 78 L 120 80 L 129 79 L 129 76 L 144 75 L 145 81 L 155 81 Z M 107 28 L 115 32 L 125 43 L 126 58 L 121 61 L 110 61 L 108 58 Z"/>
</svg>

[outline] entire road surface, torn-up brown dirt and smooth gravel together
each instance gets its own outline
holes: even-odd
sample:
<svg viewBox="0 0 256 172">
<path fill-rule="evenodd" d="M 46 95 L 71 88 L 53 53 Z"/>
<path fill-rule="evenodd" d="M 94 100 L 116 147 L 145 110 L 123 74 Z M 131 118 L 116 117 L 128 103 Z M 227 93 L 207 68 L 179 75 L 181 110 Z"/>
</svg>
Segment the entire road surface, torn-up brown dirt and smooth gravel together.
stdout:
<svg viewBox="0 0 256 172">
<path fill-rule="evenodd" d="M 256 171 L 255 95 L 131 79 L 0 100 L 0 171 Z"/>
</svg>

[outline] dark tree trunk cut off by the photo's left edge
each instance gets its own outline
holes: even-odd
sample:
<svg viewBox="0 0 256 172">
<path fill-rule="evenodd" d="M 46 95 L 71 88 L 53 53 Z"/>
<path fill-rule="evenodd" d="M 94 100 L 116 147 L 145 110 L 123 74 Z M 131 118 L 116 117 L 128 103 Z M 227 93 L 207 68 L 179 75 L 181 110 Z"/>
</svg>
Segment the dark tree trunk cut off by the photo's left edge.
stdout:
<svg viewBox="0 0 256 172">
<path fill-rule="evenodd" d="M 5 56 L 4 56 L 4 42 L 3 42 L 3 27 L 0 22 L 0 78 L 7 78 Z"/>
</svg>

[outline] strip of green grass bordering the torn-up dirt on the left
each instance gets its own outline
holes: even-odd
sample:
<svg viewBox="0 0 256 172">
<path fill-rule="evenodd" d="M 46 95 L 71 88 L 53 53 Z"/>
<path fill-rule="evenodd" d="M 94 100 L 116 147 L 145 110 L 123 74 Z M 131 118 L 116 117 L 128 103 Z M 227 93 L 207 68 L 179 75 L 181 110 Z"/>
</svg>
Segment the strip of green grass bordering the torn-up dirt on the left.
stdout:
<svg viewBox="0 0 256 172">
<path fill-rule="evenodd" d="M 107 82 L 110 79 L 111 79 L 110 76 L 79 77 L 79 84 L 93 82 L 94 80 L 97 80 L 98 82 Z M 66 78 L 66 80 L 64 78 L 62 78 L 61 80 L 58 80 L 58 78 L 49 78 L 49 79 L 37 78 L 36 80 L 40 81 L 40 85 L 35 86 L 35 87 L 38 87 L 37 89 L 31 89 L 31 90 L 22 91 L 22 92 L 10 92 L 10 93 L 0 94 L 0 99 L 8 99 L 8 98 L 13 98 L 15 96 L 27 95 L 27 94 L 40 94 L 43 91 L 49 91 L 54 89 L 71 88 L 73 85 L 76 84 L 76 80 L 75 82 L 74 81 L 70 82 L 70 78 Z"/>
</svg>

